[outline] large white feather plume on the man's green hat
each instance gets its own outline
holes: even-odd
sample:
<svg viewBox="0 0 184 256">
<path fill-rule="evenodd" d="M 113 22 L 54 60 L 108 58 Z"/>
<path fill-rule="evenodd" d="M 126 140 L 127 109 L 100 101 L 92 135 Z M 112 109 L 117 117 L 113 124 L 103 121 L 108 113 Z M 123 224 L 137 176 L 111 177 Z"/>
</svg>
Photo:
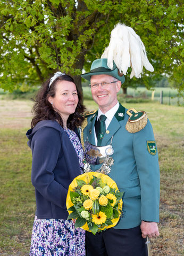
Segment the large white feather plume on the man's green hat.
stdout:
<svg viewBox="0 0 184 256">
<path fill-rule="evenodd" d="M 111 40 L 101 58 L 107 58 L 107 66 L 113 68 L 113 60 L 120 72 L 127 74 L 131 66 L 130 78 L 141 77 L 143 66 L 154 71 L 146 56 L 146 49 L 136 32 L 128 26 L 118 23 L 111 32 Z"/>
</svg>

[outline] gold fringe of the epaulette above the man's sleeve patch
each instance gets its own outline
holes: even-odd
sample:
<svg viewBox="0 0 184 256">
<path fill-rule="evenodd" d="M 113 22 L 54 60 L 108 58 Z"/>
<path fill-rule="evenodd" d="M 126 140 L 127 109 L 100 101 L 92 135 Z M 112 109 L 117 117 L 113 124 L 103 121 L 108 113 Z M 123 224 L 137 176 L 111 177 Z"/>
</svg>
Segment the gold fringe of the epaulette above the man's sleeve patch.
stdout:
<svg viewBox="0 0 184 256">
<path fill-rule="evenodd" d="M 128 130 L 129 133 L 137 133 L 138 131 L 145 128 L 145 126 L 147 125 L 147 120 L 148 120 L 148 118 L 147 118 L 146 112 L 143 115 L 143 118 L 141 118 L 135 122 L 130 122 L 128 119 L 127 124 L 126 124 L 126 130 Z"/>
</svg>

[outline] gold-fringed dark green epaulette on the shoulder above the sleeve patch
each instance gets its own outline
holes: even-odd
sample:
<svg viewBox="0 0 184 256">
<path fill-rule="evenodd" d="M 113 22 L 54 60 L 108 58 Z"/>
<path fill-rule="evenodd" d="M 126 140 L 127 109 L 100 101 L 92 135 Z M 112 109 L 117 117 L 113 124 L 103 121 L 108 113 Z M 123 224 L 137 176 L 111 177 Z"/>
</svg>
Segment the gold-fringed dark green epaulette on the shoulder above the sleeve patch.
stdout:
<svg viewBox="0 0 184 256">
<path fill-rule="evenodd" d="M 126 124 L 126 130 L 129 133 L 137 133 L 137 131 L 144 129 L 147 125 L 147 114 L 145 111 L 137 111 L 135 108 L 129 108 L 127 114 L 130 115 Z"/>
</svg>

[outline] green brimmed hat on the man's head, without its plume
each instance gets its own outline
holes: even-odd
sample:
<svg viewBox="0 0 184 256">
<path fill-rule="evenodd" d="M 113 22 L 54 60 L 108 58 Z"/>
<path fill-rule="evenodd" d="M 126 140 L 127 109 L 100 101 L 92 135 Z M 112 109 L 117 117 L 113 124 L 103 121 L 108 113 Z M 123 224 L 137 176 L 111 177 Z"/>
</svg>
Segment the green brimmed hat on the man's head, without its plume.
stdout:
<svg viewBox="0 0 184 256">
<path fill-rule="evenodd" d="M 80 76 L 90 81 L 90 77 L 92 75 L 111 75 L 120 80 L 121 83 L 124 83 L 125 80 L 123 73 L 119 72 L 118 67 L 115 65 L 114 61 L 112 69 L 107 66 L 107 59 L 94 60 L 91 65 L 90 72 L 81 74 Z"/>
</svg>

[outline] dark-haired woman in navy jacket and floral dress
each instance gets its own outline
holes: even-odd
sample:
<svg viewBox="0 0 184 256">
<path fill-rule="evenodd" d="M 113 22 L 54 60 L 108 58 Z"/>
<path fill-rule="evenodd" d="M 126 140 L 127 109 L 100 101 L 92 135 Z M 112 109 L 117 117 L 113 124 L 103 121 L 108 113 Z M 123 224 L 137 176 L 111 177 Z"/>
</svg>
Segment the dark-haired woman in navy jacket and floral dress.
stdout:
<svg viewBox="0 0 184 256">
<path fill-rule="evenodd" d="M 47 80 L 36 96 L 33 110 L 27 137 L 37 208 L 30 256 L 83 256 L 85 231 L 74 228 L 66 211 L 69 184 L 83 167 L 76 126 L 83 120 L 84 107 L 72 77 L 57 72 Z"/>
</svg>

